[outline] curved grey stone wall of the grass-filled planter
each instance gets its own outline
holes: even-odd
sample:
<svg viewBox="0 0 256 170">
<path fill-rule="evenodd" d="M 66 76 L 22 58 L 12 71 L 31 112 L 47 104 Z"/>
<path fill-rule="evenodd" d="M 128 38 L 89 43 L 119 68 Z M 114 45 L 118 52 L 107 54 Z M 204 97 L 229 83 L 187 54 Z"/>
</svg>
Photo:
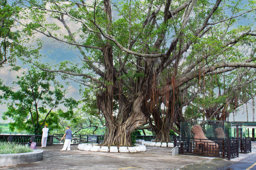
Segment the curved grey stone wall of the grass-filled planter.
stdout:
<svg viewBox="0 0 256 170">
<path fill-rule="evenodd" d="M 0 154 L 0 166 L 41 161 L 43 152 L 41 149 L 35 149 L 29 153 Z"/>
</svg>

